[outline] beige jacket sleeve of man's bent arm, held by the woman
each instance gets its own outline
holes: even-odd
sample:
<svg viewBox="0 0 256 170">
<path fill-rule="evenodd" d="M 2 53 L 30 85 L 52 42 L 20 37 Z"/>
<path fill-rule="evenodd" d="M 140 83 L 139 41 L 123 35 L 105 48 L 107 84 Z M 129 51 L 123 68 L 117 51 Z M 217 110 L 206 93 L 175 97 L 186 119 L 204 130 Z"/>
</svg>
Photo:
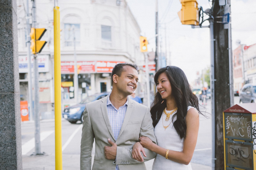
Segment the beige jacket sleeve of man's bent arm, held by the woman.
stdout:
<svg viewBox="0 0 256 170">
<path fill-rule="evenodd" d="M 150 138 L 154 143 L 157 143 L 157 139 L 155 138 L 154 135 L 153 121 L 150 116 L 149 108 L 147 108 L 146 114 L 144 115 L 144 119 L 142 120 L 139 136 L 146 136 Z M 157 155 L 155 152 L 150 151 L 146 148 L 144 148 L 144 150 L 147 155 L 147 157 L 144 157 L 142 154 L 144 162 L 155 158 L 155 156 Z M 117 147 L 116 164 L 120 165 L 123 164 L 123 162 L 129 162 L 129 164 L 141 163 L 132 158 L 132 149 Z"/>
</svg>

